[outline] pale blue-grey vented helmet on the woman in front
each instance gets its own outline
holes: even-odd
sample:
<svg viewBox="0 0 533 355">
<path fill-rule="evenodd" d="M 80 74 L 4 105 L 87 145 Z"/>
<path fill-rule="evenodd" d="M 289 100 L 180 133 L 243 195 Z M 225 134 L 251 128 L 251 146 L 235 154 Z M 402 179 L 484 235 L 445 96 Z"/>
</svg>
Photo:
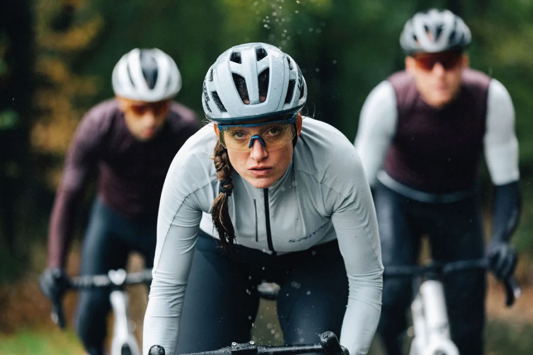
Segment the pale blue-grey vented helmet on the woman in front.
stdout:
<svg viewBox="0 0 533 355">
<path fill-rule="evenodd" d="M 231 47 L 204 79 L 205 115 L 219 123 L 294 113 L 306 100 L 307 86 L 296 62 L 265 43 Z"/>
</svg>

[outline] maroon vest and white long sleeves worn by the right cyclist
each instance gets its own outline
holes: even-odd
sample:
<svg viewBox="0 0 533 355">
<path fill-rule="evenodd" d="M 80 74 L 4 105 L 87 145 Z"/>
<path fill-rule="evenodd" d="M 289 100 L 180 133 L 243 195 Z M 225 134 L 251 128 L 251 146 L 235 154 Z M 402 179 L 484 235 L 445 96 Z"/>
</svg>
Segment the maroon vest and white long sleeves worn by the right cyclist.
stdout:
<svg viewBox="0 0 533 355">
<path fill-rule="evenodd" d="M 482 152 L 495 185 L 519 179 L 511 97 L 499 81 L 470 69 L 456 99 L 442 109 L 422 100 L 412 76 L 395 73 L 369 94 L 355 145 L 372 184 L 383 167 L 416 191 L 472 189 Z"/>
</svg>

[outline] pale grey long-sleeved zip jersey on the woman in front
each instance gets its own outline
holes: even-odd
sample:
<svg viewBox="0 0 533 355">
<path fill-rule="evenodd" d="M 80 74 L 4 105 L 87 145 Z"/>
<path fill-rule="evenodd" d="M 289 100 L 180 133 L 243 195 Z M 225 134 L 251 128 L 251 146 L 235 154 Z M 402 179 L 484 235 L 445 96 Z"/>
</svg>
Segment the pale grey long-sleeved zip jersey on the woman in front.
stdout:
<svg viewBox="0 0 533 355">
<path fill-rule="evenodd" d="M 216 140 L 213 127 L 204 127 L 185 143 L 168 171 L 143 353 L 154 344 L 176 349 L 203 214 L 202 229 L 217 237 L 208 222 L 219 194 L 211 159 Z M 279 255 L 337 239 L 349 280 L 341 343 L 352 355 L 366 353 L 381 309 L 383 266 L 374 204 L 353 145 L 332 126 L 305 118 L 292 163 L 276 183 L 258 189 L 236 172 L 232 178 L 229 213 L 239 245 Z"/>
</svg>

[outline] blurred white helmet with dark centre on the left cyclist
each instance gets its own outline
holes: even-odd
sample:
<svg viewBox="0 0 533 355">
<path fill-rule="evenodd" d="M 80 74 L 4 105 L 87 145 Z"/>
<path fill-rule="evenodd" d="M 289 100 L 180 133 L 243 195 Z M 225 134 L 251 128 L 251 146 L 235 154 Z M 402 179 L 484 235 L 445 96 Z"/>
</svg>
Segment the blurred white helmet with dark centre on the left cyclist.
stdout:
<svg viewBox="0 0 533 355">
<path fill-rule="evenodd" d="M 132 49 L 113 69 L 115 95 L 146 102 L 166 100 L 181 88 L 181 75 L 172 58 L 157 48 Z"/>
</svg>

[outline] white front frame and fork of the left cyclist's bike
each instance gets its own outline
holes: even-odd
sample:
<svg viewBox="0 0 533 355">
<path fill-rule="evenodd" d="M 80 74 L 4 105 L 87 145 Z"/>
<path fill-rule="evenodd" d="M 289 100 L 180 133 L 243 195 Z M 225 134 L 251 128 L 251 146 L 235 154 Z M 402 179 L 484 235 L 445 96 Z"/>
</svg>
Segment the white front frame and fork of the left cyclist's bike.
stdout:
<svg viewBox="0 0 533 355">
<path fill-rule="evenodd" d="M 111 340 L 111 355 L 140 355 L 139 346 L 129 322 L 129 300 L 126 291 L 111 291 L 109 299 L 115 317 L 113 338 Z"/>
</svg>

